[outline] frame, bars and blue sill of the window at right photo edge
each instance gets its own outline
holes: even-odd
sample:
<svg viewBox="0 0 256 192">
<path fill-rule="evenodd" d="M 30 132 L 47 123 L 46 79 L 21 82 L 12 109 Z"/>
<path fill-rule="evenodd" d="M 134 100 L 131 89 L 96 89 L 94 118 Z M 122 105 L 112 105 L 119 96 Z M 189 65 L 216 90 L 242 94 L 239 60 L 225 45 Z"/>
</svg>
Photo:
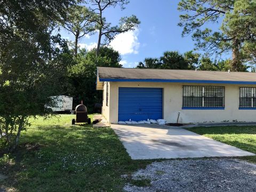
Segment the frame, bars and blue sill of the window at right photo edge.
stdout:
<svg viewBox="0 0 256 192">
<path fill-rule="evenodd" d="M 242 97 L 241 97 L 241 90 L 243 90 L 242 91 Z M 250 97 L 243 97 L 244 90 L 246 90 L 246 91 L 250 90 L 251 96 Z M 251 99 L 251 101 L 249 101 L 249 102 L 251 102 L 251 106 L 245 106 L 246 104 L 242 105 L 241 98 L 249 98 L 249 99 Z M 246 110 L 246 109 L 247 110 L 248 109 L 249 110 L 250 109 L 256 110 L 256 101 L 254 101 L 254 100 L 256 100 L 256 87 L 239 87 L 239 109 L 241 109 L 241 110 L 243 110 L 243 109 L 244 110 Z"/>
</svg>

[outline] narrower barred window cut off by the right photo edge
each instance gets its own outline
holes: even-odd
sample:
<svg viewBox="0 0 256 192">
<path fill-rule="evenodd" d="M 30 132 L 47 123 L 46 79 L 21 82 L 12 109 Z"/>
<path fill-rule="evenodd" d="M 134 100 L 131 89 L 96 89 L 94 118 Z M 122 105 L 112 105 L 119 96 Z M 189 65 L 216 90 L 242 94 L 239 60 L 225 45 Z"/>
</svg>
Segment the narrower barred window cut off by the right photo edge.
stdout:
<svg viewBox="0 0 256 192">
<path fill-rule="evenodd" d="M 239 87 L 239 107 L 256 108 L 256 87 Z"/>
</svg>

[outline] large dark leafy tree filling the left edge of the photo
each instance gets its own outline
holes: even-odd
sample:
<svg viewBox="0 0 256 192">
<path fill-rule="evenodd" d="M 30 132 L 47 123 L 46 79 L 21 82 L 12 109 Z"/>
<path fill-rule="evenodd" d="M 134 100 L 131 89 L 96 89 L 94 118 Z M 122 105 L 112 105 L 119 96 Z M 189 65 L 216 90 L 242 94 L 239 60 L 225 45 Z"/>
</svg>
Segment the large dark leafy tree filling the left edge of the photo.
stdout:
<svg viewBox="0 0 256 192">
<path fill-rule="evenodd" d="M 14 150 L 29 125 L 28 116 L 45 115 L 58 94 L 71 55 L 55 35 L 57 20 L 73 1 L 2 1 L 0 3 L 1 151 Z M 56 32 L 56 31 L 55 31 Z"/>
</svg>

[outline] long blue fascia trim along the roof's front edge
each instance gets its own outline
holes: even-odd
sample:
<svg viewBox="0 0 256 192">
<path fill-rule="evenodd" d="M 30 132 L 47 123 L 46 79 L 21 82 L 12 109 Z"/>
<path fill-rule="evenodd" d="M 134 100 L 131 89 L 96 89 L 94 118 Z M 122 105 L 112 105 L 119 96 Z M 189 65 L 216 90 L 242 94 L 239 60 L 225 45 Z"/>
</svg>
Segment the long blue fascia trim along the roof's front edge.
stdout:
<svg viewBox="0 0 256 192">
<path fill-rule="evenodd" d="M 159 82 L 159 83 L 218 83 L 218 84 L 243 84 L 256 85 L 255 82 L 248 81 L 213 81 L 213 80 L 189 80 L 189 79 L 114 79 L 100 78 L 100 82 Z"/>
</svg>

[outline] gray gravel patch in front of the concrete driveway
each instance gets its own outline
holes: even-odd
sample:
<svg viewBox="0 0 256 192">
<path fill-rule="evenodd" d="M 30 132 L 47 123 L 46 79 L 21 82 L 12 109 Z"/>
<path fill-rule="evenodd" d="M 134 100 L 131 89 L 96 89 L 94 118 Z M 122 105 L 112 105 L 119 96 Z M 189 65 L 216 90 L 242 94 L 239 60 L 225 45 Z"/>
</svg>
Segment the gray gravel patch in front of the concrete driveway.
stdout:
<svg viewBox="0 0 256 192">
<path fill-rule="evenodd" d="M 154 162 L 132 175 L 151 180 L 151 186 L 130 183 L 125 191 L 256 191 L 256 165 L 238 159 L 183 159 Z"/>
</svg>

